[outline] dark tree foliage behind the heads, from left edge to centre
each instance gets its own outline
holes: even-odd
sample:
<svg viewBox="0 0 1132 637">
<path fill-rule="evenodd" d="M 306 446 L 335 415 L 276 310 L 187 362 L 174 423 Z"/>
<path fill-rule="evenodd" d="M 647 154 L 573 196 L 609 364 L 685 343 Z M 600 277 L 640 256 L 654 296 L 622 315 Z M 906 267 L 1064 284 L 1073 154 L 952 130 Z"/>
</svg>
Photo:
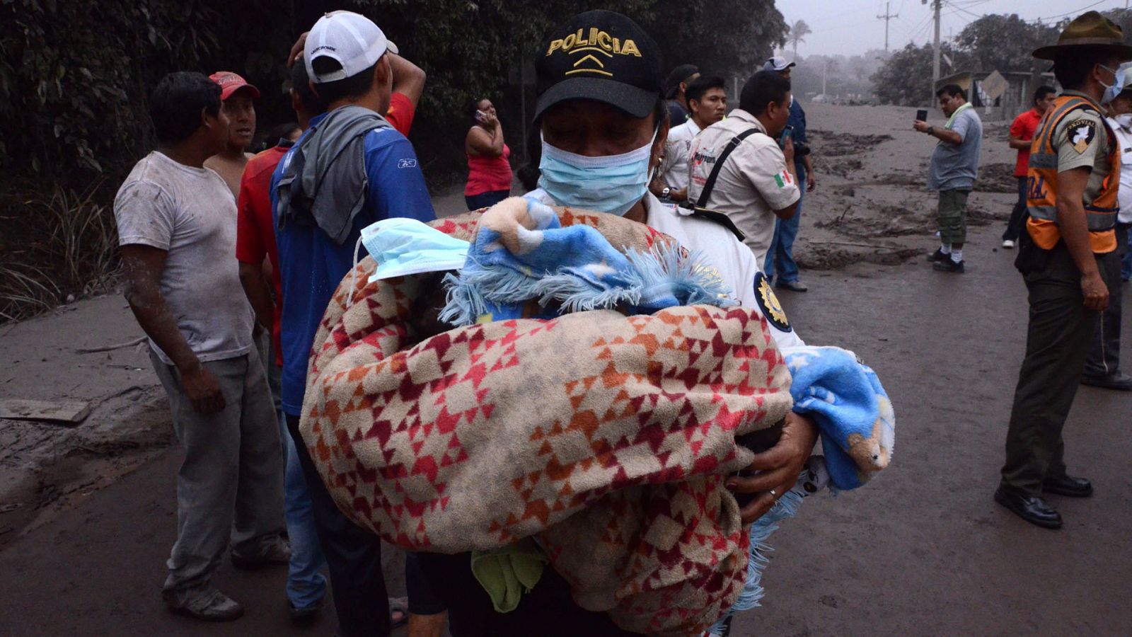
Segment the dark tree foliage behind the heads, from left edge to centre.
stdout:
<svg viewBox="0 0 1132 637">
<path fill-rule="evenodd" d="M 0 136 L 0 170 L 23 182 L 117 184 L 152 147 L 146 100 L 172 70 L 240 73 L 263 92 L 260 128 L 291 119 L 286 51 L 319 15 L 340 8 L 372 17 L 428 73 L 413 131 L 424 165 L 443 155 L 462 160 L 466 104 L 504 95 L 552 25 L 609 7 L 594 0 L 0 0 L 0 118 L 10 125 Z M 772 0 L 626 0 L 616 9 L 653 35 L 666 70 L 693 62 L 748 75 L 787 29 Z M 517 107 L 499 107 L 517 121 Z"/>
</svg>

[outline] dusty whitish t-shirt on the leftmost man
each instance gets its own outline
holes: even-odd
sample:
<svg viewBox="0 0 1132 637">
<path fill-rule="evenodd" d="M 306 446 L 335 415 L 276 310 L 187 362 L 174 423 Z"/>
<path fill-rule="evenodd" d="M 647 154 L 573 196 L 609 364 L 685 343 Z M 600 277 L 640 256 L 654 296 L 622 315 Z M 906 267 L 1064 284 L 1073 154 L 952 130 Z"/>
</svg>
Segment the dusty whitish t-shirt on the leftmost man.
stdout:
<svg viewBox="0 0 1132 637">
<path fill-rule="evenodd" d="M 201 362 L 254 348 L 255 315 L 240 286 L 235 197 L 220 175 L 153 151 L 114 197 L 118 244 L 166 250 L 160 290 L 177 328 Z M 149 340 L 166 365 L 172 359 Z"/>
</svg>

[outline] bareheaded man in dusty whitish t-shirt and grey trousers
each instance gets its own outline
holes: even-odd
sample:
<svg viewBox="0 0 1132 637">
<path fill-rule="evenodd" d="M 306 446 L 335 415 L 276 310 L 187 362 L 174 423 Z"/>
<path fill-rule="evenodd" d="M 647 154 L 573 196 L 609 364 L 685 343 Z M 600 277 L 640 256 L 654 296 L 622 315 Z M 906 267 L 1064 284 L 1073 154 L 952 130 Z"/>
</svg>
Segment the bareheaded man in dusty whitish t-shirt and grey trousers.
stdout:
<svg viewBox="0 0 1132 637">
<path fill-rule="evenodd" d="M 230 542 L 237 567 L 288 563 L 291 552 L 278 427 L 235 261 L 235 199 L 204 168 L 228 139 L 220 93 L 197 73 L 161 80 L 149 101 L 158 150 L 114 199 L 126 298 L 185 452 L 162 594 L 172 610 L 213 621 L 242 613 L 211 585 Z"/>
</svg>

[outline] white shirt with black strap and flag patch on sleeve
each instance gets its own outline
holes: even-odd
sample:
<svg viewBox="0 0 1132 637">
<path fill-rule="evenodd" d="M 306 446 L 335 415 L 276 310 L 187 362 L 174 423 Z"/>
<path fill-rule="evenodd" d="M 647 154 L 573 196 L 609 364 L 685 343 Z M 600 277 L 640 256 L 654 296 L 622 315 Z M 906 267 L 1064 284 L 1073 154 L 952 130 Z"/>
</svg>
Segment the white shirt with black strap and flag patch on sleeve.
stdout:
<svg viewBox="0 0 1132 637">
<path fill-rule="evenodd" d="M 705 207 L 727 214 L 746 235 L 744 243 L 762 263 L 774 238 L 774 211 L 798 201 L 800 190 L 786 165 L 778 142 L 755 116 L 735 109 L 722 121 L 704 128 L 692 142 L 688 201 L 696 202 L 715 160 L 737 135 L 754 128 L 728 155 Z"/>
</svg>

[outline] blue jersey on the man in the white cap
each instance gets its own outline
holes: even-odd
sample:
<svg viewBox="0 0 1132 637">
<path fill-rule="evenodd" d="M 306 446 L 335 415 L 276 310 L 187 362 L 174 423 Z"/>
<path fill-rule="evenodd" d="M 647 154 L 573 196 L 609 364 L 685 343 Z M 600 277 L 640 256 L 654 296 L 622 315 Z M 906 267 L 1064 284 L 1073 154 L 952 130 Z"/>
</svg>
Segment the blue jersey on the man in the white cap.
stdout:
<svg viewBox="0 0 1132 637">
<path fill-rule="evenodd" d="M 311 119 L 311 127 L 326 117 Z M 272 209 L 275 214 L 280 270 L 283 283 L 283 410 L 298 416 L 307 387 L 307 358 L 326 304 L 342 278 L 353 267 L 353 249 L 361 229 L 389 216 L 420 221 L 436 218 L 424 176 L 412 144 L 393 128 L 370 130 L 363 138 L 367 190 L 361 210 L 349 233 L 337 243 L 312 223 L 288 223 L 278 228 L 278 182 L 308 133 L 283 156 L 272 176 Z M 362 248 L 365 255 L 365 248 Z"/>
</svg>

